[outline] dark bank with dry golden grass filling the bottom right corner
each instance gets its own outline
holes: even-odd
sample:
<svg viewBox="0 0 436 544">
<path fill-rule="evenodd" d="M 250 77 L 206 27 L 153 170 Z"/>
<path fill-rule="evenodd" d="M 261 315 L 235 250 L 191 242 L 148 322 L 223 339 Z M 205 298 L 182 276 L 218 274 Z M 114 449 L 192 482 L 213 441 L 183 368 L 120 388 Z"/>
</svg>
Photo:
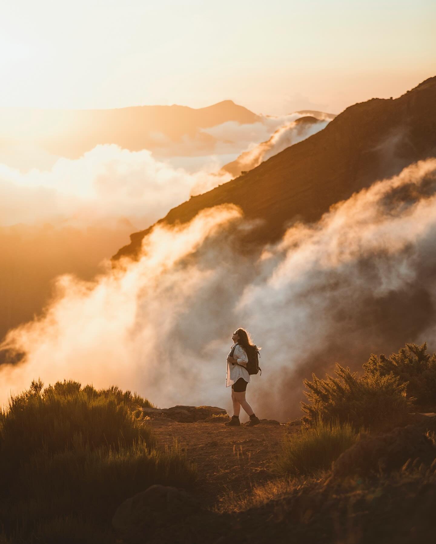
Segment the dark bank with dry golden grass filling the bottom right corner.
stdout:
<svg viewBox="0 0 436 544">
<path fill-rule="evenodd" d="M 377 479 L 334 479 L 329 472 L 278 479 L 238 496 L 227 493 L 214 511 L 221 524 L 234 520 L 228 534 L 242 544 L 431 542 L 435 469 L 436 461 L 432 467 L 406 463 Z"/>
</svg>

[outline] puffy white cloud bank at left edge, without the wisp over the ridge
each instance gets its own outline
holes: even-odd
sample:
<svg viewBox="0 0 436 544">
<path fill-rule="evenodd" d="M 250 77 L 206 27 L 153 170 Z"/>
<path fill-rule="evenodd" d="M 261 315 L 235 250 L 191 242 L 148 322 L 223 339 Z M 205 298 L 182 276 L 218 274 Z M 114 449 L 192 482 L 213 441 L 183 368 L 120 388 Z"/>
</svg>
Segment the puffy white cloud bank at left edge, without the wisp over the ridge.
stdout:
<svg viewBox="0 0 436 544">
<path fill-rule="evenodd" d="M 109 226 L 128 218 L 145 228 L 188 200 L 198 182 L 217 185 L 229 178 L 190 174 L 147 150 L 98 145 L 79 159 L 58 159 L 49 171 L 24 174 L 0 165 L 0 218 L 2 225 L 64 221 L 75 226 Z"/>
</svg>

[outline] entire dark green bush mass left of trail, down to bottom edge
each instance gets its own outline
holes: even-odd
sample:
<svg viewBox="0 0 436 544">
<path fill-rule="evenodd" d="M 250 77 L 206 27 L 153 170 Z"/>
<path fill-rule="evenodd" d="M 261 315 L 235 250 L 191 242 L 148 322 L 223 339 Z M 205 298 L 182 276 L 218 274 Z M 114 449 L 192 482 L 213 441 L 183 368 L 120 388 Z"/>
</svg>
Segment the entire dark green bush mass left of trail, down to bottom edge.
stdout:
<svg viewBox="0 0 436 544">
<path fill-rule="evenodd" d="M 96 391 L 77 382 L 45 390 L 32 382 L 11 398 L 0 414 L 2 536 L 103 542 L 126 498 L 153 484 L 191 485 L 195 466 L 177 443 L 155 448 L 141 403 L 148 401 L 116 387 Z"/>
</svg>

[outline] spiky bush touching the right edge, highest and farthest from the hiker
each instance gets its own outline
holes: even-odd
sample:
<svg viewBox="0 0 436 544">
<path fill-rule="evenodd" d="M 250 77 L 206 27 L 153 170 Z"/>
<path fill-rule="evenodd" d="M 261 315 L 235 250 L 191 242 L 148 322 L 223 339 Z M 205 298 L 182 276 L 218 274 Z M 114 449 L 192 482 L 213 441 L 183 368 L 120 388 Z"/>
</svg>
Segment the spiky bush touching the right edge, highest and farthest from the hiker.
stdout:
<svg viewBox="0 0 436 544">
<path fill-rule="evenodd" d="M 366 375 L 393 374 L 401 384 L 407 384 L 407 394 L 420 406 L 436 406 L 436 355 L 426 353 L 427 343 L 406 344 L 398 353 L 371 355 L 363 365 Z"/>
</svg>

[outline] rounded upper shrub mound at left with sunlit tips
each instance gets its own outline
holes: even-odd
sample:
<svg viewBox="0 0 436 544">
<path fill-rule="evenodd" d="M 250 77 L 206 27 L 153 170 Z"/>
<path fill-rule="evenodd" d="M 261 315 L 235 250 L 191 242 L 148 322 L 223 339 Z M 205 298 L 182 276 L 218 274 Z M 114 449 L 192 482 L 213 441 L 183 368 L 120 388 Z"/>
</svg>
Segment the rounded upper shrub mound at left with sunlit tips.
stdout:
<svg viewBox="0 0 436 544">
<path fill-rule="evenodd" d="M 44 448 L 47 454 L 73 448 L 74 443 L 118 449 L 141 440 L 152 448 L 155 440 L 128 404 L 103 391 L 89 394 L 77 382 L 58 382 L 42 391 L 41 381 L 9 401 L 0 412 L 1 483 L 20 463 Z M 4 479 L 5 478 L 5 479 Z M 1 493 L 1 491 L 0 491 Z"/>
</svg>

